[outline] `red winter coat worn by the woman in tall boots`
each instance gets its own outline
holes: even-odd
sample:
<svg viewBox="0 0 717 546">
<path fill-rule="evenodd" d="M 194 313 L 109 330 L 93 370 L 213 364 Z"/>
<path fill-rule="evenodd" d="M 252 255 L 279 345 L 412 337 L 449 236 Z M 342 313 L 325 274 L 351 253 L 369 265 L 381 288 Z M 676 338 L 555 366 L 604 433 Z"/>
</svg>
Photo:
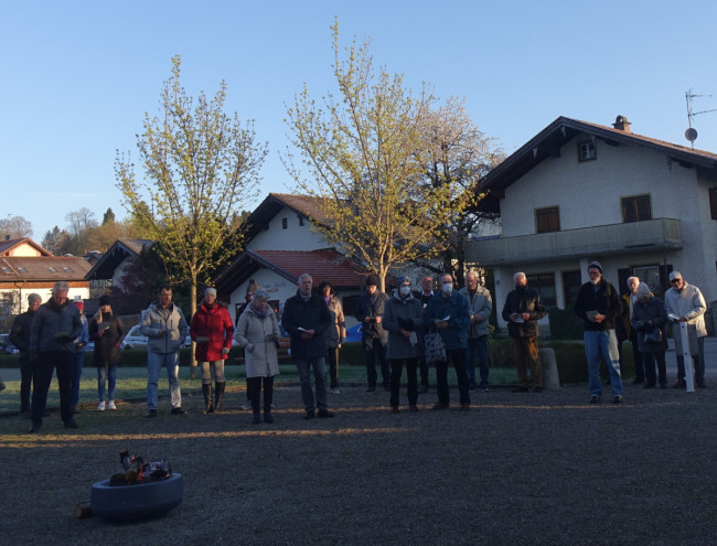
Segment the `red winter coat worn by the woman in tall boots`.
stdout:
<svg viewBox="0 0 717 546">
<path fill-rule="evenodd" d="M 228 358 L 222 354 L 222 349 L 232 349 L 234 324 L 229 311 L 221 303 L 207 307 L 202 303 L 192 317 L 190 335 L 196 342 L 194 358 L 197 362 L 216 362 Z M 210 341 L 196 341 L 197 338 L 208 338 Z"/>
</svg>

